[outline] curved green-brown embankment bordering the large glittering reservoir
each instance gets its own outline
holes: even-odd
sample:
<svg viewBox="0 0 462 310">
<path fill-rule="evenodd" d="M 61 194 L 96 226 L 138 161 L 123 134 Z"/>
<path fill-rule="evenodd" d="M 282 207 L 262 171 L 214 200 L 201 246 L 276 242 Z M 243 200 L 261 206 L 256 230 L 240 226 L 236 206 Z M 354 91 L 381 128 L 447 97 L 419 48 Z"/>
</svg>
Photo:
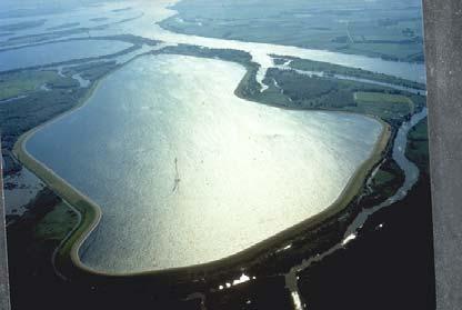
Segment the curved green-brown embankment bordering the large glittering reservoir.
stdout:
<svg viewBox="0 0 462 310">
<path fill-rule="evenodd" d="M 250 68 L 247 68 L 248 72 L 242 78 L 241 82 L 238 86 L 238 89 L 249 80 L 249 76 L 251 74 Z M 117 69 L 116 69 L 117 70 Z M 112 72 L 109 72 L 110 74 Z M 87 96 L 82 98 L 78 104 L 72 108 L 71 110 L 66 111 L 62 114 L 57 116 L 56 118 L 40 124 L 39 127 L 23 133 L 14 144 L 13 154 L 16 158 L 29 170 L 36 173 L 48 187 L 50 187 L 58 196 L 60 196 L 64 201 L 73 206 L 79 213 L 81 214 L 81 221 L 74 228 L 71 236 L 62 243 L 62 247 L 58 250 L 58 258 L 57 263 L 59 264 L 60 271 L 68 278 L 68 279 L 84 279 L 84 278 L 92 278 L 92 280 L 104 280 L 104 279 L 114 279 L 114 278 L 145 278 L 149 279 L 155 278 L 155 280 L 161 281 L 162 283 L 177 283 L 183 281 L 192 281 L 197 280 L 198 278 L 203 278 L 204 274 L 208 273 L 223 273 L 224 269 L 234 269 L 245 266 L 247 263 L 253 262 L 258 260 L 260 257 L 268 254 L 272 251 L 272 249 L 279 248 L 283 242 L 287 242 L 302 231 L 305 231 L 310 227 L 319 224 L 324 220 L 335 216 L 338 212 L 343 210 L 349 206 L 349 203 L 353 200 L 356 194 L 361 191 L 368 176 L 374 169 L 374 167 L 382 160 L 384 156 L 384 151 L 389 143 L 391 137 L 391 127 L 386 122 L 371 116 L 362 117 L 370 117 L 373 118 L 375 121 L 379 121 L 382 124 L 382 132 L 375 142 L 375 146 L 371 152 L 371 156 L 368 160 L 365 160 L 353 176 L 350 178 L 349 182 L 346 183 L 343 191 L 337 198 L 337 200 L 327 209 L 321 211 L 320 213 L 310 217 L 298 224 L 285 229 L 273 237 L 268 238 L 248 249 L 244 249 L 235 254 L 207 262 L 201 264 L 194 264 L 190 267 L 180 267 L 180 268 L 171 268 L 171 269 L 161 269 L 161 270 L 152 270 L 152 271 L 142 271 L 142 272 L 133 272 L 133 273 L 110 273 L 103 272 L 99 270 L 94 270 L 88 266 L 86 266 L 79 257 L 79 249 L 87 240 L 87 238 L 91 234 L 91 232 L 98 227 L 99 221 L 102 217 L 102 212 L 100 207 L 94 203 L 90 198 L 81 193 L 79 190 L 73 188 L 70 183 L 63 180 L 61 177 L 56 174 L 51 169 L 47 168 L 46 164 L 33 158 L 26 148 L 27 141 L 40 129 L 43 127 L 68 116 L 69 113 L 74 112 L 76 110 L 82 108 L 89 99 L 92 97 L 94 91 L 98 89 L 100 82 L 104 79 L 101 78 L 100 80 L 96 81 L 93 87 L 89 90 Z M 238 89 L 235 94 L 238 94 Z M 240 96 L 238 96 L 240 97 Z M 245 99 L 245 98 L 244 98 Z M 245 99 L 251 101 L 249 99 Z M 265 104 L 259 102 L 259 104 Z M 272 104 L 269 104 L 272 106 Z M 281 107 L 279 107 L 281 108 Z M 283 109 L 283 108 L 281 108 Z M 301 110 L 309 112 L 310 110 Z M 323 110 L 328 111 L 328 110 Z"/>
</svg>

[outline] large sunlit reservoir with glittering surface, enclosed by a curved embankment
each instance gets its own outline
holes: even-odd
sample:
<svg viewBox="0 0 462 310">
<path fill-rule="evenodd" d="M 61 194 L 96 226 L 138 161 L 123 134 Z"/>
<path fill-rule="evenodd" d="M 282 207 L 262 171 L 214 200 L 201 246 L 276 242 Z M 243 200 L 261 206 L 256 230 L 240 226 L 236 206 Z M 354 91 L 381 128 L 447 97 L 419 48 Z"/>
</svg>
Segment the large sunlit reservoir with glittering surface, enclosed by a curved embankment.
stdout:
<svg viewBox="0 0 462 310">
<path fill-rule="evenodd" d="M 217 260 L 339 197 L 382 126 L 239 99 L 244 72 L 145 56 L 31 137 L 27 150 L 102 208 L 84 263 L 132 272 Z"/>
</svg>

